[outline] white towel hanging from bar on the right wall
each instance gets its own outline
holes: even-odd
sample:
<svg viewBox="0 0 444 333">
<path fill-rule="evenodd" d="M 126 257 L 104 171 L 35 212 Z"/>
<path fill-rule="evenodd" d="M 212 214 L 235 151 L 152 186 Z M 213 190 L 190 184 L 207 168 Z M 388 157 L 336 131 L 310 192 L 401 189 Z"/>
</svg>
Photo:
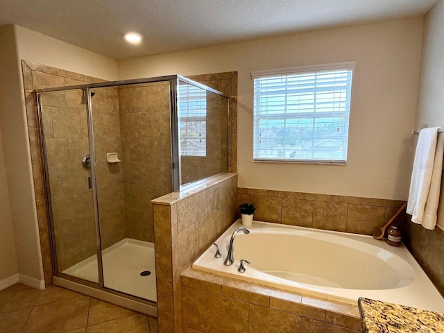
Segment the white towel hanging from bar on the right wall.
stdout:
<svg viewBox="0 0 444 333">
<path fill-rule="evenodd" d="M 437 146 L 440 129 L 442 128 L 424 128 L 419 133 L 407 202 L 407 214 L 411 214 L 411 221 L 423 224 L 427 229 L 435 228 L 441 188 L 444 141 L 440 135 L 440 146 Z"/>
</svg>

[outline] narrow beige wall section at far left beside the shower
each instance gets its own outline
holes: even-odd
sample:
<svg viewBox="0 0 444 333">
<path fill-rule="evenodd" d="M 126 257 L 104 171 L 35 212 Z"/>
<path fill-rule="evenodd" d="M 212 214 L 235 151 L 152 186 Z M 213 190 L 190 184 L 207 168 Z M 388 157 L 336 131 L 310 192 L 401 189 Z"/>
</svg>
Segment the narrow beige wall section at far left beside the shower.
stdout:
<svg viewBox="0 0 444 333">
<path fill-rule="evenodd" d="M 43 280 L 37 212 L 14 26 L 0 29 L 0 127 L 19 273 Z"/>
</svg>

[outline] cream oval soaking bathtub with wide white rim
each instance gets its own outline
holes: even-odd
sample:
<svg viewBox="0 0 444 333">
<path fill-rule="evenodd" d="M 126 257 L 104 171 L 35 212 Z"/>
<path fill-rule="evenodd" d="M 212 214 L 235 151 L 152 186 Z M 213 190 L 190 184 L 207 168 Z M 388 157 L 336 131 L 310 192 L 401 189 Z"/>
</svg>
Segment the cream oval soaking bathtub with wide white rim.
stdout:
<svg viewBox="0 0 444 333">
<path fill-rule="evenodd" d="M 192 265 L 201 271 L 357 303 L 373 298 L 444 313 L 444 300 L 407 248 L 371 236 L 253 221 L 234 240 L 234 264 L 224 266 L 236 221 Z M 240 259 L 248 259 L 239 273 Z"/>
</svg>

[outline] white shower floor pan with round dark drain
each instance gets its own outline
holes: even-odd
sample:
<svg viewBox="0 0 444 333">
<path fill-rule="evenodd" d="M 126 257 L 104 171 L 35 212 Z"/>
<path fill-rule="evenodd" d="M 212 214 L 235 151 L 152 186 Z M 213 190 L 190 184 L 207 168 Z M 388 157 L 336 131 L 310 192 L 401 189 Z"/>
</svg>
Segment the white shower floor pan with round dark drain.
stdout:
<svg viewBox="0 0 444 333">
<path fill-rule="evenodd" d="M 106 288 L 157 302 L 154 244 L 122 239 L 102 251 L 103 283 Z M 140 275 L 149 271 L 151 274 Z M 62 273 L 99 283 L 97 255 L 67 268 Z"/>
</svg>

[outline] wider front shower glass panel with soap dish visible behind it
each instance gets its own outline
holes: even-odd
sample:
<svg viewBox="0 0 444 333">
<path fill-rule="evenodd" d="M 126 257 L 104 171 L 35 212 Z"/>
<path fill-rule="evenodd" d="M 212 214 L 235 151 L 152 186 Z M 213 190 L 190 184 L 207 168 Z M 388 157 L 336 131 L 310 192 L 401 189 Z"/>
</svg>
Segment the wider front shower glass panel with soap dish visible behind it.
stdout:
<svg viewBox="0 0 444 333">
<path fill-rule="evenodd" d="M 169 81 L 92 92 L 103 285 L 155 302 L 151 200 L 173 191 Z"/>
</svg>

